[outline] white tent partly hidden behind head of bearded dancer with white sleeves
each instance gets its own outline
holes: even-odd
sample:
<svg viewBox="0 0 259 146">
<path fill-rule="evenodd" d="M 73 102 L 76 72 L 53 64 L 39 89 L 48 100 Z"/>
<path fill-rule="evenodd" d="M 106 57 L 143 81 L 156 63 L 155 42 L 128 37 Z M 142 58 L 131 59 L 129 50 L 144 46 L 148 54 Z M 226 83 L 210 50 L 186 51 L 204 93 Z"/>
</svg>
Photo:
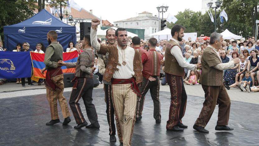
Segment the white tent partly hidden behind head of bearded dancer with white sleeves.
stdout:
<svg viewBox="0 0 259 146">
<path fill-rule="evenodd" d="M 168 40 L 168 39 L 172 38 L 171 29 L 169 29 L 169 28 L 166 28 L 166 29 L 164 29 L 162 31 L 159 31 L 159 32 L 152 33 L 148 36 L 154 36 L 156 39 L 158 39 L 158 36 L 159 36 L 160 40 L 162 40 L 162 39 Z M 188 40 L 188 37 L 191 37 L 192 40 L 196 40 L 197 32 L 184 33 L 183 39 Z"/>
</svg>

